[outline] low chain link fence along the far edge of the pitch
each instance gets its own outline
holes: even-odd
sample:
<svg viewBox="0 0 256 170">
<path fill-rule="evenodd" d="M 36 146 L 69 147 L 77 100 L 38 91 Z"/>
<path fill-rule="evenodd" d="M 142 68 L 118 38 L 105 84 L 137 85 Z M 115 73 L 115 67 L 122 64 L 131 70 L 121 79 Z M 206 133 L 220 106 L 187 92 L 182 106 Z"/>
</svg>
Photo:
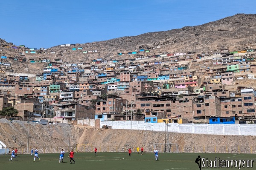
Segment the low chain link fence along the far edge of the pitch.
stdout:
<svg viewBox="0 0 256 170">
<path fill-rule="evenodd" d="M 35 146 L 35 147 L 14 147 L 17 148 L 18 154 L 30 154 L 31 148 L 35 151 L 35 148 L 38 148 L 38 153 L 59 153 L 61 149 L 66 152 L 74 150 L 75 152 L 94 152 L 94 148 L 97 147 L 98 152 L 128 152 L 128 149 L 131 147 L 133 152 L 137 152 L 137 147 L 142 147 L 140 145 L 136 146 L 97 146 L 90 144 L 77 144 L 75 146 L 54 146 L 54 147 L 45 147 L 45 146 Z M 161 147 L 164 147 L 161 146 Z M 153 153 L 154 146 L 143 147 L 145 153 Z M 158 148 L 161 152 L 164 148 Z M 12 152 L 12 147 L 6 147 L 2 149 L 2 154 L 10 154 Z M 170 147 L 170 153 L 176 153 L 176 146 Z M 192 145 L 178 145 L 178 153 L 256 153 L 256 146 L 192 146 Z"/>
</svg>

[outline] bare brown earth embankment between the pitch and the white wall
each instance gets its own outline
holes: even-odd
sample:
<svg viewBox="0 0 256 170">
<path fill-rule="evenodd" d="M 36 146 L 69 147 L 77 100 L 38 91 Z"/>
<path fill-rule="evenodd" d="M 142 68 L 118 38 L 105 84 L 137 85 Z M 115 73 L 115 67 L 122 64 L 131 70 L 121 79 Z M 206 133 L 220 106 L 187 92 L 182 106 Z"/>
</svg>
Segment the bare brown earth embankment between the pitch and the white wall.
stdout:
<svg viewBox="0 0 256 170">
<path fill-rule="evenodd" d="M 165 143 L 164 132 L 95 129 L 81 125 L 69 127 L 63 123 L 41 125 L 30 122 L 29 148 L 38 147 L 41 153 L 58 152 L 60 147 L 68 150 L 69 128 L 70 148 L 74 147 L 78 152 L 91 152 L 94 147 L 99 152 L 122 152 L 128 147 L 137 146 L 144 146 L 145 152 L 151 152 L 154 143 Z M 10 122 L 0 119 L 0 140 L 7 147 L 17 147 L 20 152 L 26 153 L 27 134 L 26 121 Z M 256 136 L 169 133 L 169 143 L 177 143 L 179 152 L 256 153 Z M 158 147 L 163 150 L 163 146 Z M 175 151 L 175 147 L 170 150 Z"/>
</svg>

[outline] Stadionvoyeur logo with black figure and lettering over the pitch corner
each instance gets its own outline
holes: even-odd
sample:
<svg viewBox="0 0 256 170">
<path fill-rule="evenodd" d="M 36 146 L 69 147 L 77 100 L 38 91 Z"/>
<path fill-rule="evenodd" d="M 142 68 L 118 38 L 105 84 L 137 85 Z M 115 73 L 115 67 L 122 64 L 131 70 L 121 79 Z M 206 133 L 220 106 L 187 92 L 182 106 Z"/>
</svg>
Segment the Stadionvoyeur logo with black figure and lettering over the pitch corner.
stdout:
<svg viewBox="0 0 256 170">
<path fill-rule="evenodd" d="M 254 160 L 248 159 L 248 160 L 242 160 L 242 159 L 222 159 L 217 158 L 215 159 L 208 159 L 208 158 L 201 158 L 201 156 L 198 156 L 195 159 L 195 163 L 198 164 L 199 169 L 201 170 L 202 167 L 212 167 L 212 168 L 238 168 L 239 170 L 241 168 L 253 168 L 253 162 Z"/>
</svg>

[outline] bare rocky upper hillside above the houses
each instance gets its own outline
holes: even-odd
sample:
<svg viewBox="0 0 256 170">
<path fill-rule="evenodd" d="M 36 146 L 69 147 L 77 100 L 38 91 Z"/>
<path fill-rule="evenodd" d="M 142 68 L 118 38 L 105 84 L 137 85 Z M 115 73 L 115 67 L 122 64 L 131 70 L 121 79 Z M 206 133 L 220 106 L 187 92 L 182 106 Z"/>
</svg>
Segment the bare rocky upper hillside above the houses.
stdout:
<svg viewBox="0 0 256 170">
<path fill-rule="evenodd" d="M 225 46 L 230 50 L 244 49 L 247 46 L 256 48 L 256 14 L 236 14 L 232 17 L 226 17 L 221 20 L 205 23 L 199 26 L 186 26 L 181 29 L 172 29 L 163 32 L 150 32 L 132 37 L 119 37 L 112 40 L 74 44 L 73 46 L 60 45 L 47 49 L 47 53 L 26 54 L 26 59 L 63 59 L 64 62 L 80 63 L 96 58 L 133 58 L 134 55 L 117 56 L 117 53 L 127 53 L 139 49 L 148 49 L 147 55 L 159 54 L 161 52 L 208 52 L 220 49 Z M 0 39 L 1 45 L 7 45 Z M 10 44 L 9 44 L 10 45 Z M 17 44 L 18 45 L 18 44 Z M 156 48 L 160 46 L 160 48 Z M 81 50 L 73 51 L 72 48 L 82 47 Z M 33 48 L 33 47 L 29 47 Z M 1 55 L 17 56 L 18 50 L 3 48 Z M 83 53 L 82 51 L 97 50 L 94 53 Z M 24 52 L 24 51 L 23 51 Z M 51 53 L 55 52 L 55 53 Z M 145 54 L 140 54 L 145 55 Z M 35 68 L 43 68 L 44 64 L 25 62 L 22 65 L 17 61 L 12 61 L 14 72 L 38 73 Z M 21 68 L 21 69 L 20 69 Z"/>
</svg>

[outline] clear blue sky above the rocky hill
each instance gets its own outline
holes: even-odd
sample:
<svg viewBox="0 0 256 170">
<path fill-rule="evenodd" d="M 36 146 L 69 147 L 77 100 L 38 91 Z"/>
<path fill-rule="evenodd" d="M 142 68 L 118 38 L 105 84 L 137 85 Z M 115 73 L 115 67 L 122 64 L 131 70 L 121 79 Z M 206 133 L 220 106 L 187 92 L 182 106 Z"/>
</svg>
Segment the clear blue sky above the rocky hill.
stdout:
<svg viewBox="0 0 256 170">
<path fill-rule="evenodd" d="M 0 1 L 0 38 L 29 48 L 197 26 L 255 13 L 256 0 Z"/>
</svg>

